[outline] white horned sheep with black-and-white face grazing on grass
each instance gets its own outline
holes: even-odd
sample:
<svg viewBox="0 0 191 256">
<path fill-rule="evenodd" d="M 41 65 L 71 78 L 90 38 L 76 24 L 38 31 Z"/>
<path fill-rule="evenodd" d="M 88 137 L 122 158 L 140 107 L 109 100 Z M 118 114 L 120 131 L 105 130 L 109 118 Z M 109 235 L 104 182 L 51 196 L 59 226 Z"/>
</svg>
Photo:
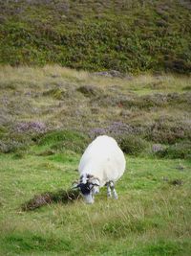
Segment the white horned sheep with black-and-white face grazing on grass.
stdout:
<svg viewBox="0 0 191 256">
<path fill-rule="evenodd" d="M 94 203 L 99 188 L 107 186 L 108 197 L 117 198 L 115 182 L 125 171 L 125 157 L 117 141 L 101 135 L 84 151 L 78 166 L 79 181 L 74 185 L 87 203 Z"/>
</svg>

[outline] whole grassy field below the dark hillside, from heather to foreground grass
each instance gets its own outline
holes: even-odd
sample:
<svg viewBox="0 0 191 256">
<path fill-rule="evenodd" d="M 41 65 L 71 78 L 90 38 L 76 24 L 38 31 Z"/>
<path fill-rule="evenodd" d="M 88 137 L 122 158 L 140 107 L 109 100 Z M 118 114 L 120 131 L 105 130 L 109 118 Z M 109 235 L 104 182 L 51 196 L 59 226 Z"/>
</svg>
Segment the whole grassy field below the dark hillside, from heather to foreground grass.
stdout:
<svg viewBox="0 0 191 256">
<path fill-rule="evenodd" d="M 190 255 L 190 89 L 183 76 L 1 67 L 0 255 Z M 93 205 L 22 210 L 70 188 L 103 133 L 126 153 L 118 200 L 103 188 Z"/>
</svg>

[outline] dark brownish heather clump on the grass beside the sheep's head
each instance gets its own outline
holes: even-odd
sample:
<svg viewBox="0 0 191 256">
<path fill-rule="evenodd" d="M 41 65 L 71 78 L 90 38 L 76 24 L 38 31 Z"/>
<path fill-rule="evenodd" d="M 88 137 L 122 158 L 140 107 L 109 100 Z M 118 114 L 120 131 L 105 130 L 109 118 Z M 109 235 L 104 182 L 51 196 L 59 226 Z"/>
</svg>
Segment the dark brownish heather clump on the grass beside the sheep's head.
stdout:
<svg viewBox="0 0 191 256">
<path fill-rule="evenodd" d="M 40 195 L 34 196 L 29 201 L 25 202 L 21 208 L 23 211 L 32 211 L 41 206 L 51 204 L 51 203 L 68 203 L 73 202 L 80 198 L 80 193 L 78 190 L 59 190 L 56 192 L 45 192 Z"/>
</svg>

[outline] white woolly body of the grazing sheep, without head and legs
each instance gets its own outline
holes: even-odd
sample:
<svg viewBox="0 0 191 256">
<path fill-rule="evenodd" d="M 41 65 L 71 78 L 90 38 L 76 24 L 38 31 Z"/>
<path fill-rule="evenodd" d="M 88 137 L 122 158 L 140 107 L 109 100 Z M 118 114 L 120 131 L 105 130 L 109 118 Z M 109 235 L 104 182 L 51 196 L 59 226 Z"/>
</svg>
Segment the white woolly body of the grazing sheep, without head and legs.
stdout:
<svg viewBox="0 0 191 256">
<path fill-rule="evenodd" d="M 103 186 L 117 179 L 125 170 L 125 158 L 115 139 L 99 136 L 84 151 L 78 167 L 79 173 L 97 176 Z"/>
</svg>

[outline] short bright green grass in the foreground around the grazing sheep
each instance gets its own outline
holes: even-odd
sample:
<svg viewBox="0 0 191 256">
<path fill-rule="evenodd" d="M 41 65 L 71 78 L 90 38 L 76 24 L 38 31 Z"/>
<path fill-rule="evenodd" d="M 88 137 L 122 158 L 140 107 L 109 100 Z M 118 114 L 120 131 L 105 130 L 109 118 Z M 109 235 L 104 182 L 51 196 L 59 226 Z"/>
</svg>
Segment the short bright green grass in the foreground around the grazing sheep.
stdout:
<svg viewBox="0 0 191 256">
<path fill-rule="evenodd" d="M 0 158 L 2 255 L 189 254 L 189 161 L 127 157 L 118 200 L 102 189 L 91 206 L 77 200 L 23 212 L 22 203 L 34 195 L 70 188 L 79 155 L 73 162 L 64 153 L 62 162 L 56 155 Z M 171 184 L 174 179 L 182 183 Z"/>
</svg>

